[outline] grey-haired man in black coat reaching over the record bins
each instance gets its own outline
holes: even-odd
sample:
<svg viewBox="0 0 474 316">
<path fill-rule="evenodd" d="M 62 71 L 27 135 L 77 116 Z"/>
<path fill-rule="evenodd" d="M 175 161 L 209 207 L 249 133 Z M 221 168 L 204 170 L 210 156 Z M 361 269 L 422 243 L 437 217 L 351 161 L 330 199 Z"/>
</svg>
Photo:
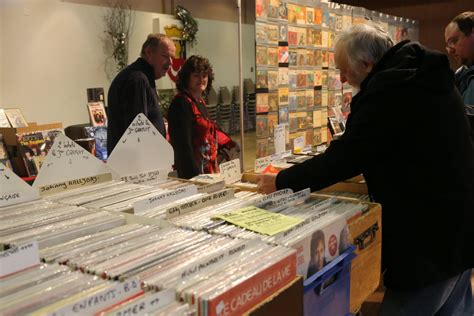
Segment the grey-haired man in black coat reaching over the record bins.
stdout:
<svg viewBox="0 0 474 316">
<path fill-rule="evenodd" d="M 474 146 L 445 55 L 392 46 L 354 26 L 336 44 L 341 79 L 360 89 L 325 153 L 262 175 L 259 190 L 312 191 L 363 173 L 382 204 L 382 315 L 471 315 Z"/>
</svg>

